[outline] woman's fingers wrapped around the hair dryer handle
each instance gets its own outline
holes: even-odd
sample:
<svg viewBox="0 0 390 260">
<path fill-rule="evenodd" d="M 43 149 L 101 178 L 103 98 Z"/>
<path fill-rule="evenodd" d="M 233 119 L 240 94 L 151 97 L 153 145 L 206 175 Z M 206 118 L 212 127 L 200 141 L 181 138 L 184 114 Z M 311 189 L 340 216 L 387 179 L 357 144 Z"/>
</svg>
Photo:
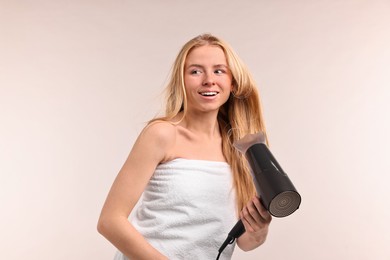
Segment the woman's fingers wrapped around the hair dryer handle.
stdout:
<svg viewBox="0 0 390 260">
<path fill-rule="evenodd" d="M 260 203 L 259 198 L 254 197 L 243 208 L 240 218 L 247 231 L 256 232 L 268 226 L 272 220 L 271 215 Z"/>
</svg>

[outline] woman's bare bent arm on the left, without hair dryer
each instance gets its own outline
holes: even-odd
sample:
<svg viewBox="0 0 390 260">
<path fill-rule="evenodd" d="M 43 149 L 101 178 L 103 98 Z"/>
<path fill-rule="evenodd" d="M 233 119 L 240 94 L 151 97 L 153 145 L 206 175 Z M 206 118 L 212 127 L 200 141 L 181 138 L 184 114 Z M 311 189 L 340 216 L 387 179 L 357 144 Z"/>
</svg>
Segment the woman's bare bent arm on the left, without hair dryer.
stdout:
<svg viewBox="0 0 390 260">
<path fill-rule="evenodd" d="M 155 123 L 141 133 L 119 171 L 98 221 L 98 231 L 130 259 L 167 259 L 131 225 L 128 217 L 154 173 L 169 156 L 175 127 Z"/>
</svg>

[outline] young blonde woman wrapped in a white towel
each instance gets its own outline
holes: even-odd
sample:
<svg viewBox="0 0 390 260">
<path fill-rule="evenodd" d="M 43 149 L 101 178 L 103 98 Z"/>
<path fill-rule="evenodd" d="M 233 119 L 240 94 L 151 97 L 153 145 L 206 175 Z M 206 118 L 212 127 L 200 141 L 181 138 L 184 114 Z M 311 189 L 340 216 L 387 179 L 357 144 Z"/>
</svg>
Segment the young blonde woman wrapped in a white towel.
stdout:
<svg viewBox="0 0 390 260">
<path fill-rule="evenodd" d="M 265 133 L 250 73 L 226 42 L 200 35 L 179 52 L 167 94 L 165 117 L 136 140 L 99 218 L 98 231 L 119 249 L 115 259 L 215 259 L 239 218 L 246 232 L 237 245 L 260 246 L 271 216 L 233 147 Z"/>
</svg>

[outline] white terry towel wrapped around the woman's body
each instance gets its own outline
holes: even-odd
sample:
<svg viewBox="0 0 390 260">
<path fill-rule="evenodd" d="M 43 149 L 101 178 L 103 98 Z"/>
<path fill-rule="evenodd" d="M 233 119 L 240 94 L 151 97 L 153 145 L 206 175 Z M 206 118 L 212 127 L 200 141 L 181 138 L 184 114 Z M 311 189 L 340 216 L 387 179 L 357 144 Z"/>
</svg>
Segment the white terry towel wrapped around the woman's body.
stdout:
<svg viewBox="0 0 390 260">
<path fill-rule="evenodd" d="M 230 166 L 175 159 L 158 165 L 132 223 L 169 259 L 216 259 L 237 222 Z M 231 259 L 234 244 L 220 259 Z M 115 260 L 127 259 L 120 252 Z"/>
</svg>

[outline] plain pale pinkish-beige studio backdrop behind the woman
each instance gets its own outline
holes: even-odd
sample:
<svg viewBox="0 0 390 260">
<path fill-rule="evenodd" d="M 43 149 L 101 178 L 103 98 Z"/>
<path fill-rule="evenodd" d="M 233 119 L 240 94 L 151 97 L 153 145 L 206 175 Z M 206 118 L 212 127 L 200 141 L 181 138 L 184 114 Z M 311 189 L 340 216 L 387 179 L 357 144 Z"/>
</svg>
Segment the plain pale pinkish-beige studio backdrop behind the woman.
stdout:
<svg viewBox="0 0 390 260">
<path fill-rule="evenodd" d="M 386 0 L 1 0 L 0 259 L 112 259 L 108 190 L 180 47 L 210 32 L 303 198 L 233 259 L 389 260 L 389 28 Z"/>
</svg>

